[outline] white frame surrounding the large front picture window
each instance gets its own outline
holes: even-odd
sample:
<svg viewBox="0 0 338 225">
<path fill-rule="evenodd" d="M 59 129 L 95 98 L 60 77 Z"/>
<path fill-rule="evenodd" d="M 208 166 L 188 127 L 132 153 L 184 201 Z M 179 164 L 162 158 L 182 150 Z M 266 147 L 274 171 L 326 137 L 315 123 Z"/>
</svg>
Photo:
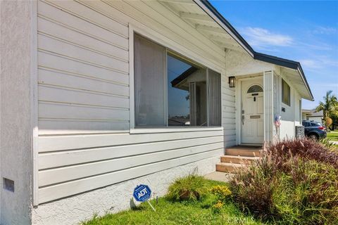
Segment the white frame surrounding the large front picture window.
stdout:
<svg viewBox="0 0 338 225">
<path fill-rule="evenodd" d="M 206 68 L 206 79 L 208 79 L 208 70 L 213 70 L 218 72 L 220 75 L 220 89 L 222 89 L 222 76 L 224 74 L 224 70 L 221 68 L 217 68 L 214 65 L 211 65 L 209 62 L 204 61 L 203 58 L 196 58 L 196 54 L 191 55 L 190 51 L 184 51 L 177 44 L 173 45 L 173 41 L 168 41 L 168 38 L 163 37 L 161 34 L 154 32 L 154 30 L 144 30 L 142 28 L 136 27 L 134 25 L 129 26 L 129 62 L 130 62 L 130 134 L 146 134 L 146 133 L 167 133 L 167 132 L 177 132 L 177 131 L 215 131 L 215 130 L 223 130 L 223 112 L 221 108 L 220 112 L 220 126 L 206 126 L 206 127 L 169 127 L 168 121 L 166 127 L 137 127 L 135 124 L 135 108 L 134 108 L 134 34 L 140 35 L 150 41 L 154 41 L 154 43 L 164 46 L 166 49 L 166 54 L 170 54 L 171 56 L 175 56 L 180 60 L 187 61 L 189 63 L 193 63 L 196 66 L 201 68 Z M 181 53 L 181 52 L 184 52 Z M 168 75 L 165 75 L 166 77 Z M 207 91 L 208 93 L 208 91 Z M 208 99 L 208 96 L 206 96 Z M 168 101 L 168 91 L 165 91 L 165 99 Z M 220 103 L 222 103 L 223 96 L 222 91 L 220 93 Z M 167 113 L 165 117 L 168 120 L 168 102 L 165 103 L 165 107 L 167 108 Z M 208 117 L 208 103 L 207 103 L 207 117 Z"/>
</svg>

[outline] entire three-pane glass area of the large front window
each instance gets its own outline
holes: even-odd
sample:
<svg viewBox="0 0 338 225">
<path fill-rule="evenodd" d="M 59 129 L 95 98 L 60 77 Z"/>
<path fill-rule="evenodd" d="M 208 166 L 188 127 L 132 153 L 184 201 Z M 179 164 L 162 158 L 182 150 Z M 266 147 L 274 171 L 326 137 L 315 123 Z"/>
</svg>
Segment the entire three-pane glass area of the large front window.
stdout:
<svg viewBox="0 0 338 225">
<path fill-rule="evenodd" d="M 134 35 L 135 127 L 221 125 L 220 74 Z"/>
</svg>

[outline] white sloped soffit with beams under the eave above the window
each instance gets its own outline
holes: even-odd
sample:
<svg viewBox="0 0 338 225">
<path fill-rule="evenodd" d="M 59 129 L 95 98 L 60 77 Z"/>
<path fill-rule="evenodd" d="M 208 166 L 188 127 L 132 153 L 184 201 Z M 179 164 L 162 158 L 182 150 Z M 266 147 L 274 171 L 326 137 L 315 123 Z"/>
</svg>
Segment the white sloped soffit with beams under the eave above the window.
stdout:
<svg viewBox="0 0 338 225">
<path fill-rule="evenodd" d="M 221 48 L 247 52 L 223 27 L 215 22 L 211 15 L 208 15 L 208 13 L 194 1 L 158 1 Z"/>
</svg>

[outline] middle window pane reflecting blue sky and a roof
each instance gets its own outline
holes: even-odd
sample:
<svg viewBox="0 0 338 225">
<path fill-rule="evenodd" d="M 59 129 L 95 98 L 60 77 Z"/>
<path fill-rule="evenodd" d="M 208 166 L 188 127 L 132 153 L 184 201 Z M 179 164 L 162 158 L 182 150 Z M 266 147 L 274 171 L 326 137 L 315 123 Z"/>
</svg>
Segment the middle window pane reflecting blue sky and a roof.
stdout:
<svg viewBox="0 0 338 225">
<path fill-rule="evenodd" d="M 206 70 L 168 55 L 168 126 L 206 126 Z"/>
</svg>

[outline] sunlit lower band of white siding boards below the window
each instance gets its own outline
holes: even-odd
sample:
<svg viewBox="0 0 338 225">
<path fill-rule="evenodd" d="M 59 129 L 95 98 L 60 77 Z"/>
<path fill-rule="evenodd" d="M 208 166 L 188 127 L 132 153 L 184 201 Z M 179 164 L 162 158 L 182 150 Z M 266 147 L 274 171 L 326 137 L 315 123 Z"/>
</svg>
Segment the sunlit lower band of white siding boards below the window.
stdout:
<svg viewBox="0 0 338 225">
<path fill-rule="evenodd" d="M 223 130 L 39 137 L 39 203 L 223 153 Z"/>
</svg>

